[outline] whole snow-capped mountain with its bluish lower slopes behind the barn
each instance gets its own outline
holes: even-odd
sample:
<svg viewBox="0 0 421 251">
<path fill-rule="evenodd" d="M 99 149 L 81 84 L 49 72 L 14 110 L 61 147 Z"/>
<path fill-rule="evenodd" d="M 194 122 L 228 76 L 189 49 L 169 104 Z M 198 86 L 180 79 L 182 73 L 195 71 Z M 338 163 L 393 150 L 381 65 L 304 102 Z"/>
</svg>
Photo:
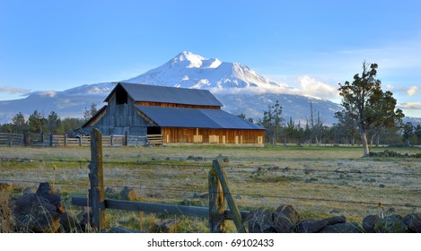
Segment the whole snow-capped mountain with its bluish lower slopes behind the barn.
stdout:
<svg viewBox="0 0 421 251">
<path fill-rule="evenodd" d="M 310 103 L 314 114 L 320 114 L 325 125 L 336 123 L 333 115 L 341 109 L 329 100 L 300 95 L 298 90 L 273 82 L 246 65 L 221 62 L 185 51 L 145 74 L 122 82 L 207 89 L 224 104 L 224 110 L 255 119 L 262 117 L 263 111 L 279 100 L 285 120 L 292 117 L 295 121 L 302 121 L 302 125 L 310 118 Z M 66 91 L 35 91 L 22 100 L 0 101 L 0 124 L 10 122 L 18 112 L 28 117 L 35 109 L 46 117 L 51 111 L 60 117 L 83 117 L 84 109 L 90 108 L 92 102 L 101 108 L 102 101 L 115 84 L 102 82 Z"/>
</svg>

